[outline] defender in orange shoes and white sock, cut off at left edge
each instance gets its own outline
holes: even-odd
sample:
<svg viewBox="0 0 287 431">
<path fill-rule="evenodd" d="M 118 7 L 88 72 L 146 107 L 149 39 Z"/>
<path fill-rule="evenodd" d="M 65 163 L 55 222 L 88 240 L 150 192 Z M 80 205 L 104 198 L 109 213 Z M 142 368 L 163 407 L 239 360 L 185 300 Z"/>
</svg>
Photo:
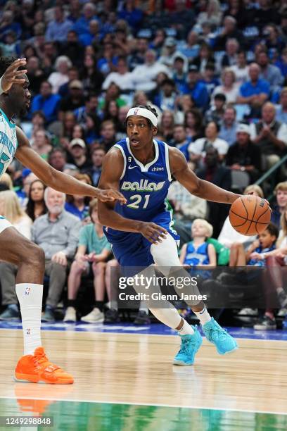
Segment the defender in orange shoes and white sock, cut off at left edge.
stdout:
<svg viewBox="0 0 287 431">
<path fill-rule="evenodd" d="M 25 115 L 31 94 L 25 73 L 25 58 L 0 58 L 0 177 L 13 157 L 30 168 L 40 180 L 63 193 L 93 196 L 101 201 L 126 199 L 117 189 L 100 190 L 53 169 L 30 147 L 27 137 L 13 122 Z M 45 268 L 44 251 L 20 235 L 0 216 L 0 260 L 18 266 L 16 294 L 20 303 L 24 334 L 24 356 L 15 368 L 15 379 L 25 382 L 70 384 L 72 375 L 49 362 L 42 347 L 40 327 Z M 1 352 L 3 354 L 3 352 Z"/>
</svg>

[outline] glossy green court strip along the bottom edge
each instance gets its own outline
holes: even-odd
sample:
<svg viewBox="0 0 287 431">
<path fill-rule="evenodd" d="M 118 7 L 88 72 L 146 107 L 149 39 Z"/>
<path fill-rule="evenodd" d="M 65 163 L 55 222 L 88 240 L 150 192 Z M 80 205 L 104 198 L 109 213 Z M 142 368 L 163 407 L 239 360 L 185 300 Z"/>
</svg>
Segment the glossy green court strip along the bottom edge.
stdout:
<svg viewBox="0 0 287 431">
<path fill-rule="evenodd" d="M 57 431 L 287 430 L 287 416 L 274 413 L 81 401 L 46 401 L 45 405 L 39 400 L 0 399 L 0 416 L 32 415 L 39 406 L 44 408 L 44 416 L 53 416 L 53 430 Z M 49 429 L 38 427 L 38 430 Z"/>
</svg>

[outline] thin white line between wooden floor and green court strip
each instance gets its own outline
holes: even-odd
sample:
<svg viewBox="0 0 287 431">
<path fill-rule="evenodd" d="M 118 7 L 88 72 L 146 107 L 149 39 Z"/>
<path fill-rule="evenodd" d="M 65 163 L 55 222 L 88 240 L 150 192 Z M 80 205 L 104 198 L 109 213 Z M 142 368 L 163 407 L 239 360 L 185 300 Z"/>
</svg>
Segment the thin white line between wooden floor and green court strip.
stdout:
<svg viewBox="0 0 287 431">
<path fill-rule="evenodd" d="M 67 401 L 67 402 L 75 402 L 75 403 L 94 403 L 94 404 L 125 404 L 127 406 L 151 406 L 151 407 L 171 407 L 171 408 L 193 408 L 194 410 L 216 410 L 216 411 L 236 411 L 242 413 L 260 413 L 267 415 L 282 415 L 287 416 L 287 412 L 276 412 L 276 411 L 261 411 L 261 410 L 245 410 L 244 408 L 219 408 L 219 407 L 206 407 L 206 406 L 179 406 L 177 404 L 160 404 L 160 403 L 134 403 L 134 402 L 125 402 L 125 401 L 100 401 L 100 400 L 88 400 L 88 399 L 63 399 L 63 398 L 53 398 L 47 399 L 42 396 L 2 396 L 0 395 L 0 399 L 39 399 L 41 401 Z"/>
</svg>

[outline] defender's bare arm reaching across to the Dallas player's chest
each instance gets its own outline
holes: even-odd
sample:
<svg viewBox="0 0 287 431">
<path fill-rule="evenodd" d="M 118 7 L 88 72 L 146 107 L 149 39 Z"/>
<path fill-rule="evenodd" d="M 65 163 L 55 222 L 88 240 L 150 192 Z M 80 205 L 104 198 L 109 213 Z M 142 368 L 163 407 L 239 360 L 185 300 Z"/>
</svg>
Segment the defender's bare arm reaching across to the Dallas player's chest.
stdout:
<svg viewBox="0 0 287 431">
<path fill-rule="evenodd" d="M 18 149 L 15 157 L 18 158 L 20 163 L 30 168 L 46 185 L 63 193 L 96 197 L 100 201 L 119 200 L 122 204 L 125 204 L 126 199 L 117 189 L 97 189 L 96 187 L 84 184 L 84 182 L 80 182 L 74 177 L 52 168 L 49 163 L 46 163 L 46 161 L 31 148 L 23 131 L 19 127 L 17 127 L 16 130 Z"/>
</svg>

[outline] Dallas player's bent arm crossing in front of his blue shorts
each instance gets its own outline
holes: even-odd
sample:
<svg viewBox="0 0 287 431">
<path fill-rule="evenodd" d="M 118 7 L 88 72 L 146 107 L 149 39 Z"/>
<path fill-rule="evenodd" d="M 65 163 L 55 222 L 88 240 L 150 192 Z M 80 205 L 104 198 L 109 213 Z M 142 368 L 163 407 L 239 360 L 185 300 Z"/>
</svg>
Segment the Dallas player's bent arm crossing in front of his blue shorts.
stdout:
<svg viewBox="0 0 287 431">
<path fill-rule="evenodd" d="M 98 187 L 103 189 L 119 189 L 120 177 L 124 169 L 124 159 L 119 149 L 112 148 L 103 159 L 103 168 Z M 139 232 L 148 241 L 156 244 L 165 237 L 166 230 L 155 223 L 146 223 L 122 217 L 114 211 L 115 203 L 100 202 L 98 204 L 98 220 L 102 225 L 125 232 Z"/>
</svg>

